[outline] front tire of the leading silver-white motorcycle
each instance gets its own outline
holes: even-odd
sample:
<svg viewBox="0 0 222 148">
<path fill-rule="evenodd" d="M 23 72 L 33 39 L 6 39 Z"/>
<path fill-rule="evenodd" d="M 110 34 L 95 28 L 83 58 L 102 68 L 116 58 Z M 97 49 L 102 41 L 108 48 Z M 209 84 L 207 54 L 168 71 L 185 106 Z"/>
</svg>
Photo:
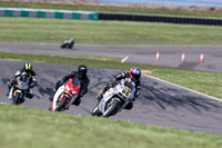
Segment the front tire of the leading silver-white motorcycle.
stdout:
<svg viewBox="0 0 222 148">
<path fill-rule="evenodd" d="M 121 103 L 117 99 L 112 99 L 111 101 L 113 101 L 113 102 L 111 102 L 110 107 L 107 107 L 102 117 L 110 117 L 110 116 L 113 116 L 117 114 L 118 108 L 120 107 Z M 108 105 L 109 105 L 109 102 L 108 102 Z"/>
</svg>

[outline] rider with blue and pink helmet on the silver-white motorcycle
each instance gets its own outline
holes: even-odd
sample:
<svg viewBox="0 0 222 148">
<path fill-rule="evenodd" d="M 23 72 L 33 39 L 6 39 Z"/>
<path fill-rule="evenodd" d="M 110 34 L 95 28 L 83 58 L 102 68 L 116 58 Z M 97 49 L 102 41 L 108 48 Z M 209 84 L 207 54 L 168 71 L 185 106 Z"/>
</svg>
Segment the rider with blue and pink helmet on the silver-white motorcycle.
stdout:
<svg viewBox="0 0 222 148">
<path fill-rule="evenodd" d="M 103 97 L 103 93 L 110 89 L 111 87 L 114 87 L 117 85 L 118 81 L 124 79 L 128 82 L 131 82 L 134 87 L 135 87 L 135 93 L 134 93 L 134 99 L 133 101 L 140 96 L 140 88 L 141 88 L 141 81 L 140 81 L 140 77 L 141 77 L 141 70 L 138 67 L 132 67 L 130 69 L 130 71 L 125 71 L 122 72 L 118 76 L 115 76 L 112 80 L 111 83 L 107 85 L 104 87 L 104 89 L 102 90 L 102 93 L 100 93 L 97 99 L 100 101 Z M 129 102 L 128 106 L 125 107 L 125 109 L 130 110 L 133 107 L 133 102 Z"/>
</svg>

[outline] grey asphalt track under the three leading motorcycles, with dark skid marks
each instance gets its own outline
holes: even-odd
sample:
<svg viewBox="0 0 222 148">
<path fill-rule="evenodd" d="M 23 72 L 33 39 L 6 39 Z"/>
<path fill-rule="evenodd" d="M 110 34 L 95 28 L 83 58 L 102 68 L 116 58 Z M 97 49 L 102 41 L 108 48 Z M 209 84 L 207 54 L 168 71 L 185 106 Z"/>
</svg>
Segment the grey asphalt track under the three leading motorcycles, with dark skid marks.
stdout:
<svg viewBox="0 0 222 148">
<path fill-rule="evenodd" d="M 23 63 L 24 61 L 0 59 L 0 102 L 9 102 L 6 96 L 7 81 Z M 48 109 L 48 97 L 52 92 L 56 81 L 77 67 L 31 63 L 37 72 L 38 86 L 33 88 L 33 99 L 27 99 L 22 106 Z M 71 106 L 68 112 L 90 116 L 98 91 L 119 72 L 122 70 L 89 67 L 88 73 L 91 80 L 89 92 L 82 98 L 79 107 Z M 222 134 L 222 101 L 145 76 L 142 76 L 141 80 L 141 97 L 135 101 L 133 109 L 123 110 L 112 117 L 113 119 Z"/>
</svg>

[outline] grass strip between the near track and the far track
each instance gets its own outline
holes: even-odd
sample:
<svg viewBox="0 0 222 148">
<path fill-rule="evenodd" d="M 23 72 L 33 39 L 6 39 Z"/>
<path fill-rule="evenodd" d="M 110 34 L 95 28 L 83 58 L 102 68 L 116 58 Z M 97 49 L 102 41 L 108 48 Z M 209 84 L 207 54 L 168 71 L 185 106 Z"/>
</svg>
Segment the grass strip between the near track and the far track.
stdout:
<svg viewBox="0 0 222 148">
<path fill-rule="evenodd" d="M 107 58 L 91 56 L 58 56 L 58 55 L 39 55 L 39 53 L 14 53 L 0 52 L 1 59 L 21 59 L 40 62 L 54 62 L 63 65 L 87 65 L 89 67 L 103 67 L 114 69 L 130 69 L 139 67 L 142 70 L 151 70 L 152 76 L 168 80 L 180 86 L 198 90 L 200 92 L 214 96 L 222 99 L 222 73 L 191 71 L 169 67 L 140 65 L 140 63 L 121 63 L 119 58 Z"/>
</svg>

